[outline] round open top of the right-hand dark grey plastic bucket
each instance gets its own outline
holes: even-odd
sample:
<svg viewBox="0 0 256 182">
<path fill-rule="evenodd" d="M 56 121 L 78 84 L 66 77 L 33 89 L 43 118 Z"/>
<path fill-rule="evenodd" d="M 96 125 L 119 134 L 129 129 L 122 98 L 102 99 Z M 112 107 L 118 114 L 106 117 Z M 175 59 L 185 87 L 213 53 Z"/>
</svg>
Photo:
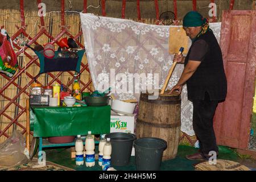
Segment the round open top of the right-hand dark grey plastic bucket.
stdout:
<svg viewBox="0 0 256 182">
<path fill-rule="evenodd" d="M 158 146 L 146 146 L 146 142 L 157 142 L 156 145 Z M 139 144 L 140 143 L 140 144 Z M 143 145 L 141 145 L 143 143 Z M 167 142 L 166 140 L 160 139 L 160 138 L 155 138 L 155 137 L 145 137 L 145 138 L 139 138 L 134 141 L 134 147 L 141 147 L 141 148 L 146 148 L 146 149 L 158 149 L 158 150 L 165 150 L 167 147 Z"/>
</svg>

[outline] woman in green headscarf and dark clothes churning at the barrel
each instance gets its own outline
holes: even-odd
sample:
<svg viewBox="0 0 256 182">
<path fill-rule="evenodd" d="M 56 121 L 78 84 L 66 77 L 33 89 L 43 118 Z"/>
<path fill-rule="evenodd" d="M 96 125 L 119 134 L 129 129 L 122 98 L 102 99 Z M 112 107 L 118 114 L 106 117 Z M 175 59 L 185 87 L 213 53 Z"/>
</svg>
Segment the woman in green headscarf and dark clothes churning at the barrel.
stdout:
<svg viewBox="0 0 256 182">
<path fill-rule="evenodd" d="M 186 57 L 175 55 L 174 61 L 184 63 L 184 71 L 170 93 L 181 93 L 187 83 L 188 99 L 193 103 L 193 130 L 199 140 L 199 153 L 186 156 L 191 160 L 209 159 L 210 151 L 218 155 L 213 130 L 213 116 L 218 102 L 226 98 L 226 76 L 222 53 L 218 42 L 209 28 L 207 19 L 196 11 L 183 18 L 183 28 L 192 40 Z"/>
</svg>

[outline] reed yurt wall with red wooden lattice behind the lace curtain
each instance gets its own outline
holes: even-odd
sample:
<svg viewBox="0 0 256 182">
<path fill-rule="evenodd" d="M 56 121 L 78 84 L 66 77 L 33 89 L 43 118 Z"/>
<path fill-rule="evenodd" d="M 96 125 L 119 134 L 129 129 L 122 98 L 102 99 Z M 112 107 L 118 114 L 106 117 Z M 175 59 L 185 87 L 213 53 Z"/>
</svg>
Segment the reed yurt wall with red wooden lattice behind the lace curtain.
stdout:
<svg viewBox="0 0 256 182">
<path fill-rule="evenodd" d="M 26 27 L 23 27 L 26 30 L 27 34 L 33 38 L 40 31 L 40 27 L 42 28 L 42 22 L 40 22 L 40 17 L 38 16 L 38 1 L 24 1 L 24 24 Z M 63 27 L 61 24 L 61 1 L 51 1 L 45 0 L 40 1 L 46 3 L 46 16 L 44 16 L 44 23 L 47 32 L 55 38 L 58 34 L 60 34 Z M 71 2 L 71 3 L 70 3 Z M 102 15 L 102 2 L 103 1 L 95 1 L 88 0 L 86 1 L 87 13 L 94 13 Z M 137 20 L 137 1 L 129 0 L 126 2 L 125 6 L 123 6 L 123 1 L 121 0 L 112 0 L 112 1 L 104 1 L 105 2 L 105 12 L 106 16 L 115 17 L 115 18 L 123 18 L 122 17 L 122 8 L 125 8 L 124 18 Z M 154 1 L 154 0 L 143 0 L 139 1 L 140 10 L 141 10 L 141 18 L 144 23 L 154 24 L 156 19 L 156 2 L 159 6 L 159 14 L 164 11 L 174 11 L 174 1 Z M 214 2 L 217 5 L 217 21 L 221 20 L 221 12 L 223 9 L 229 9 L 230 1 L 175 1 L 177 4 L 177 18 L 181 19 L 187 11 L 192 10 L 193 8 L 200 11 L 204 16 L 208 16 L 209 11 L 209 2 Z M 195 4 L 196 2 L 196 4 Z M 234 9 L 251 9 L 254 5 L 255 1 L 252 0 L 237 0 L 234 3 Z M 68 31 L 71 35 L 75 36 L 79 34 L 81 31 L 80 28 L 80 16 L 79 12 L 83 10 L 83 1 L 73 0 L 67 1 L 65 0 L 64 10 L 69 12 L 65 13 L 65 26 L 70 26 Z M 53 12 L 52 12 L 53 11 Z M 57 11 L 57 12 L 56 12 Z M 72 12 L 76 11 L 76 12 Z M 15 33 L 19 30 L 21 23 L 20 18 L 20 3 L 18 0 L 2 0 L 0 5 L 0 26 L 4 26 L 10 36 L 15 35 Z M 41 26 L 40 26 L 41 25 Z M 67 27 L 66 27 L 67 28 Z M 23 34 L 20 34 L 19 37 L 22 38 Z M 66 36 L 66 35 L 64 35 Z M 63 36 L 63 37 L 64 37 Z M 24 39 L 27 39 L 24 36 Z M 82 36 L 79 36 L 77 40 L 83 45 L 84 41 L 82 40 Z M 45 44 L 50 42 L 46 35 L 40 36 L 36 42 L 38 44 Z M 34 44 L 32 45 L 34 46 Z M 57 49 L 57 47 L 56 47 Z M 15 49 L 15 51 L 19 51 L 19 49 Z M 28 55 L 35 57 L 35 53 L 31 51 L 31 49 L 26 49 Z M 11 78 L 7 76 L 0 76 L 0 88 L 5 88 L 3 92 L 0 93 L 0 110 L 2 111 L 0 114 L 0 143 L 6 140 L 7 137 L 11 135 L 13 130 L 18 129 L 25 133 L 26 131 L 26 112 L 24 108 L 26 108 L 26 98 L 28 98 L 28 93 L 30 92 L 30 86 L 28 86 L 28 82 L 31 82 L 32 78 L 39 73 L 39 60 L 35 60 L 34 63 L 30 64 L 27 67 L 27 64 L 30 63 L 31 59 L 29 59 L 24 53 L 20 53 L 18 56 L 18 64 L 19 69 L 24 69 L 25 71 L 20 74 L 12 84 L 6 86 Z M 82 59 L 82 63 L 86 65 L 86 57 L 84 56 Z M 17 71 L 18 72 L 18 71 Z M 75 72 L 72 72 L 73 74 Z M 52 75 L 42 74 L 38 77 L 38 81 L 44 85 L 52 82 L 51 84 L 55 84 L 56 81 L 52 81 L 55 77 L 63 82 L 67 83 L 68 78 L 72 78 L 71 73 L 68 72 L 53 72 Z M 86 92 L 89 90 L 93 90 L 92 81 L 90 79 L 90 74 L 86 71 L 86 68 L 82 69 L 82 73 L 80 79 L 84 82 L 82 91 Z M 69 82 L 69 89 L 71 89 L 72 81 Z M 26 88 L 26 89 L 24 89 Z M 24 89 L 24 92 L 20 93 L 20 90 Z M 15 96 L 19 95 L 15 99 L 14 102 L 11 102 Z M 10 106 L 7 106 L 10 105 Z M 185 144 L 193 144 L 196 141 L 195 136 L 188 136 L 187 134 L 181 133 L 181 143 Z"/>
</svg>

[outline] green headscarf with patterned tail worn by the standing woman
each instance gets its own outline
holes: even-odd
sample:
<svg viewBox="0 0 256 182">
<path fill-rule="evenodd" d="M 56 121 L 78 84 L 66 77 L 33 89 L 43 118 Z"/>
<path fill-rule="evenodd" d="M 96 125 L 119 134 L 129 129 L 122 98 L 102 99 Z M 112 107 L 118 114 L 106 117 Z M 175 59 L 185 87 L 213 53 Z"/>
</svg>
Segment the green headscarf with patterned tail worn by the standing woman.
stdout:
<svg viewBox="0 0 256 182">
<path fill-rule="evenodd" d="M 191 39 L 192 42 L 195 42 L 199 36 L 205 34 L 207 31 L 212 31 L 209 28 L 209 22 L 206 18 L 203 18 L 203 16 L 198 13 L 197 11 L 189 11 L 183 18 L 183 27 L 199 27 L 201 26 L 202 29 L 197 34 L 196 38 Z"/>
</svg>

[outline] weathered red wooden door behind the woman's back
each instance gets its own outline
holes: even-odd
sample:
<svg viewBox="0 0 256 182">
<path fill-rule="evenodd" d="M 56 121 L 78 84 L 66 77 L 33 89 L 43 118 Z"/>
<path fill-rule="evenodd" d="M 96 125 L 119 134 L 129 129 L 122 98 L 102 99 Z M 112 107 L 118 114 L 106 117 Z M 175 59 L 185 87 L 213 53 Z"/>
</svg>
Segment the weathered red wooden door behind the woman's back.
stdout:
<svg viewBox="0 0 256 182">
<path fill-rule="evenodd" d="M 255 89 L 255 10 L 223 12 L 220 47 L 228 94 L 214 115 L 217 144 L 247 149 Z"/>
</svg>

